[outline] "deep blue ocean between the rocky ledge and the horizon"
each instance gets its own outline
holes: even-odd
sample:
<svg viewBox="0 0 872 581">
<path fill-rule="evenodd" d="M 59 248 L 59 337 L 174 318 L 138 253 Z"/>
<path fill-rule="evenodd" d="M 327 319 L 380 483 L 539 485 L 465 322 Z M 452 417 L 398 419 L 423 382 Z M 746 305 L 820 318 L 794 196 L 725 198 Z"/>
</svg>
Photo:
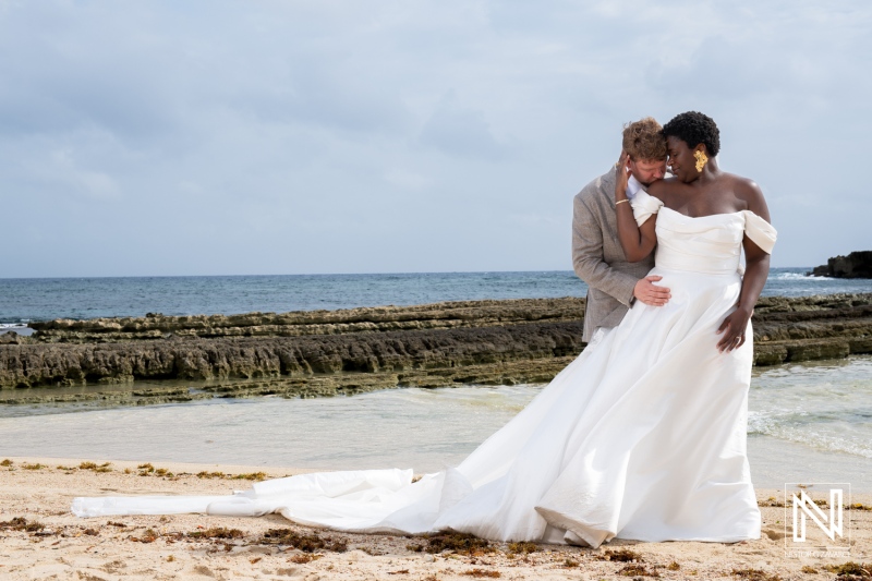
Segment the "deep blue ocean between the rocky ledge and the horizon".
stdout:
<svg viewBox="0 0 872 581">
<path fill-rule="evenodd" d="M 807 277 L 773 268 L 763 294 L 872 292 L 872 280 Z M 480 299 L 584 296 L 571 270 L 227 277 L 0 278 L 0 326 L 31 320 L 165 315 L 283 313 Z"/>
</svg>

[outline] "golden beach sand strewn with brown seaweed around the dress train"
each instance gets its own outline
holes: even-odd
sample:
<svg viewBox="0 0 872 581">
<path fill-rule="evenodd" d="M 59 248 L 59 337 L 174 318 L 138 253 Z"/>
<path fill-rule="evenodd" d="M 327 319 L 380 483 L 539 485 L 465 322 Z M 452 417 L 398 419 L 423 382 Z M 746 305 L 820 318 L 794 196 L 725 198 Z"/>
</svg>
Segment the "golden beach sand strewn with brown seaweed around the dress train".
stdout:
<svg viewBox="0 0 872 581">
<path fill-rule="evenodd" d="M 785 509 L 766 506 L 783 505 L 784 491 L 766 489 L 758 491 L 764 530 L 758 541 L 615 540 L 597 549 L 491 543 L 472 552 L 431 554 L 427 548 L 435 550 L 438 538 L 336 533 L 298 526 L 279 515 L 80 519 L 70 512 L 75 496 L 230 494 L 249 487 L 244 476 L 281 477 L 306 472 L 302 470 L 120 461 L 101 468 L 105 461 L 99 459 L 9 460 L 0 465 L 0 579 L 4 580 L 823 580 L 836 576 L 827 567 L 872 562 L 872 495 L 851 498 L 867 508 L 846 512 L 852 544 L 847 557 L 788 556 Z M 276 529 L 283 531 L 266 534 Z M 291 546 L 294 543 L 303 550 Z"/>
</svg>

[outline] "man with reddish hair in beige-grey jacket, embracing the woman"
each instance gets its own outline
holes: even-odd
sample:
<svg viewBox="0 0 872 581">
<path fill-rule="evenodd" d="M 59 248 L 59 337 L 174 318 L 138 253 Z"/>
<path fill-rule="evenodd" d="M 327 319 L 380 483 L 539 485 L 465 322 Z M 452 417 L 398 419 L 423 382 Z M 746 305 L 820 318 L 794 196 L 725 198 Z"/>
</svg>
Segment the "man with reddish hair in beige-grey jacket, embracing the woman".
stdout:
<svg viewBox="0 0 872 581">
<path fill-rule="evenodd" d="M 639 190 L 662 180 L 666 172 L 666 140 L 661 129 L 652 117 L 623 129 L 623 152 L 630 154 L 627 197 L 631 201 Z M 654 266 L 654 254 L 630 263 L 620 246 L 615 216 L 618 171 L 616 164 L 585 185 L 574 199 L 572 266 L 589 287 L 584 342 L 590 342 L 597 329 L 616 327 L 634 301 L 659 306 L 670 296 L 669 289 L 654 285 L 663 277 L 645 276 Z"/>
</svg>

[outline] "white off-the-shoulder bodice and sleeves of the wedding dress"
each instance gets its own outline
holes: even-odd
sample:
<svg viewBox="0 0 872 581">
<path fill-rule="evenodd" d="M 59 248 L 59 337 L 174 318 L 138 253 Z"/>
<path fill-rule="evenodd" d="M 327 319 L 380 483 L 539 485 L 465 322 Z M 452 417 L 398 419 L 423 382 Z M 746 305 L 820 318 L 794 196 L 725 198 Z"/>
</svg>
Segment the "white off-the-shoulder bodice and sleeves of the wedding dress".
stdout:
<svg viewBox="0 0 872 581">
<path fill-rule="evenodd" d="M 632 207 L 640 226 L 658 214 L 658 268 L 727 275 L 739 267 L 746 235 L 766 253 L 772 253 L 775 245 L 775 228 L 751 210 L 693 218 L 665 207 L 643 191 L 633 197 Z"/>
</svg>

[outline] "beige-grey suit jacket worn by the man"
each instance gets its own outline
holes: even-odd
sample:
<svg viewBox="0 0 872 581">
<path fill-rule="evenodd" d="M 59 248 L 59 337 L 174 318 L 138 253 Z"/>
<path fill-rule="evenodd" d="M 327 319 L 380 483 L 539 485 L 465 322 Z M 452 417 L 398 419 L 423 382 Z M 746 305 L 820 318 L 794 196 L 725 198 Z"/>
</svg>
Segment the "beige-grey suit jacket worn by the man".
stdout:
<svg viewBox="0 0 872 581">
<path fill-rule="evenodd" d="M 615 327 L 633 300 L 633 287 L 654 267 L 654 254 L 627 262 L 618 240 L 615 216 L 616 169 L 585 185 L 576 195 L 572 211 L 572 267 L 588 283 L 583 341 L 596 327 Z"/>
</svg>

